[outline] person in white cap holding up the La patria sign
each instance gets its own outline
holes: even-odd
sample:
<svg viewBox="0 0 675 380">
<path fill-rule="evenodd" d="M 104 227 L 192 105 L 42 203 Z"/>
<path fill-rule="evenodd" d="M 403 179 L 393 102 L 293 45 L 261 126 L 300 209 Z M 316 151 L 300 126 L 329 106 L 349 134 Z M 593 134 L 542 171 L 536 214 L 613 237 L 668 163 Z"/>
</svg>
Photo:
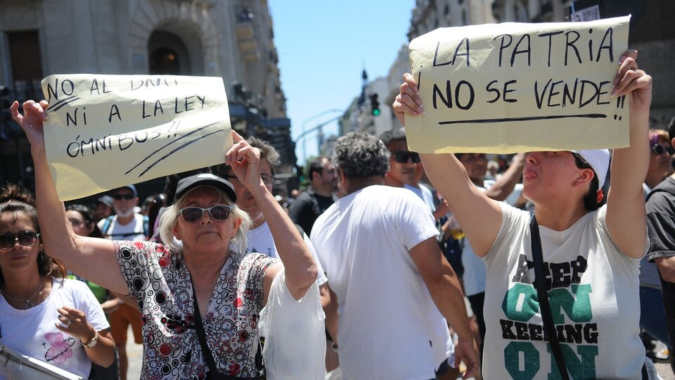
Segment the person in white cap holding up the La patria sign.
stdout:
<svg viewBox="0 0 675 380">
<path fill-rule="evenodd" d="M 471 186 L 453 155 L 421 155 L 487 267 L 485 379 L 640 379 L 653 369 L 638 337 L 652 79 L 638 70 L 636 56 L 626 51 L 619 58 L 612 82 L 612 95 L 629 98 L 630 147 L 614 151 L 606 205 L 600 188 L 607 150 L 527 153 L 522 194 L 534 203 L 532 216 Z M 404 75 L 393 105 L 401 122 L 404 113 L 423 113 L 417 93 L 412 75 Z M 545 280 L 533 269 L 538 256 Z M 539 292 L 550 303 L 548 322 L 537 284 L 544 284 Z"/>
</svg>

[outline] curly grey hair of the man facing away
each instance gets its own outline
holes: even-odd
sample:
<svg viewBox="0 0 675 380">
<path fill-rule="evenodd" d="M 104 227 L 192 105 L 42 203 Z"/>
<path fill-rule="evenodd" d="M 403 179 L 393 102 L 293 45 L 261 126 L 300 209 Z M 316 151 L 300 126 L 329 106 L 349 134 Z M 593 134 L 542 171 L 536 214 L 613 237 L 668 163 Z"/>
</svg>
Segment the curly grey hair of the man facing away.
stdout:
<svg viewBox="0 0 675 380">
<path fill-rule="evenodd" d="M 384 177 L 389 171 L 385 144 L 372 134 L 349 132 L 335 141 L 333 164 L 347 178 Z"/>
</svg>

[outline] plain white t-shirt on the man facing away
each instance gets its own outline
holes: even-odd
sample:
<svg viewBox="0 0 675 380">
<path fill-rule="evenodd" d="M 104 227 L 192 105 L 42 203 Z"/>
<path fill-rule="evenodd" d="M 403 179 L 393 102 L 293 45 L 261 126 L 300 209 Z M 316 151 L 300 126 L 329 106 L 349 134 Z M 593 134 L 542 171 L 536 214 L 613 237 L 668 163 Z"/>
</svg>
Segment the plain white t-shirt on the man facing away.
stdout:
<svg viewBox="0 0 675 380">
<path fill-rule="evenodd" d="M 390 186 L 340 198 L 316 220 L 345 379 L 431 379 L 448 357 L 446 321 L 409 254 L 437 234 L 420 198 Z"/>
</svg>

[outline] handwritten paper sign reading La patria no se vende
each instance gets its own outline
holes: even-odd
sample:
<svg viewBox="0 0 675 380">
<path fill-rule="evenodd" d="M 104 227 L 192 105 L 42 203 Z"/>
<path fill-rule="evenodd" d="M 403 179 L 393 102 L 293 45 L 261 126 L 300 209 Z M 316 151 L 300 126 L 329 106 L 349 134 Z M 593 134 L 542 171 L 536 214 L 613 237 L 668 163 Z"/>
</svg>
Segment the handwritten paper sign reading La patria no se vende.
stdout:
<svg viewBox="0 0 675 380">
<path fill-rule="evenodd" d="M 586 23 L 449 27 L 410 43 L 425 113 L 411 150 L 515 153 L 628 146 L 628 102 L 612 80 L 630 16 Z"/>
</svg>

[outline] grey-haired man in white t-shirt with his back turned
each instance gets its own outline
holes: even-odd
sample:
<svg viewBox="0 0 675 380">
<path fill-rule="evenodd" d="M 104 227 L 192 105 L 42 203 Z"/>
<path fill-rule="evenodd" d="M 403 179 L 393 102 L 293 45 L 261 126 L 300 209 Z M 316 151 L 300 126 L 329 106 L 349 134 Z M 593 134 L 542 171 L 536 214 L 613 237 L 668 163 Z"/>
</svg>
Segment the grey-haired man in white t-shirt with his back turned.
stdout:
<svg viewBox="0 0 675 380">
<path fill-rule="evenodd" d="M 462 291 L 425 205 L 411 191 L 383 186 L 389 151 L 377 137 L 351 132 L 334 149 L 347 195 L 316 220 L 311 241 L 337 301 L 343 379 L 436 379 L 451 372 L 453 352 L 451 365 L 464 360 L 474 372 Z"/>
</svg>

